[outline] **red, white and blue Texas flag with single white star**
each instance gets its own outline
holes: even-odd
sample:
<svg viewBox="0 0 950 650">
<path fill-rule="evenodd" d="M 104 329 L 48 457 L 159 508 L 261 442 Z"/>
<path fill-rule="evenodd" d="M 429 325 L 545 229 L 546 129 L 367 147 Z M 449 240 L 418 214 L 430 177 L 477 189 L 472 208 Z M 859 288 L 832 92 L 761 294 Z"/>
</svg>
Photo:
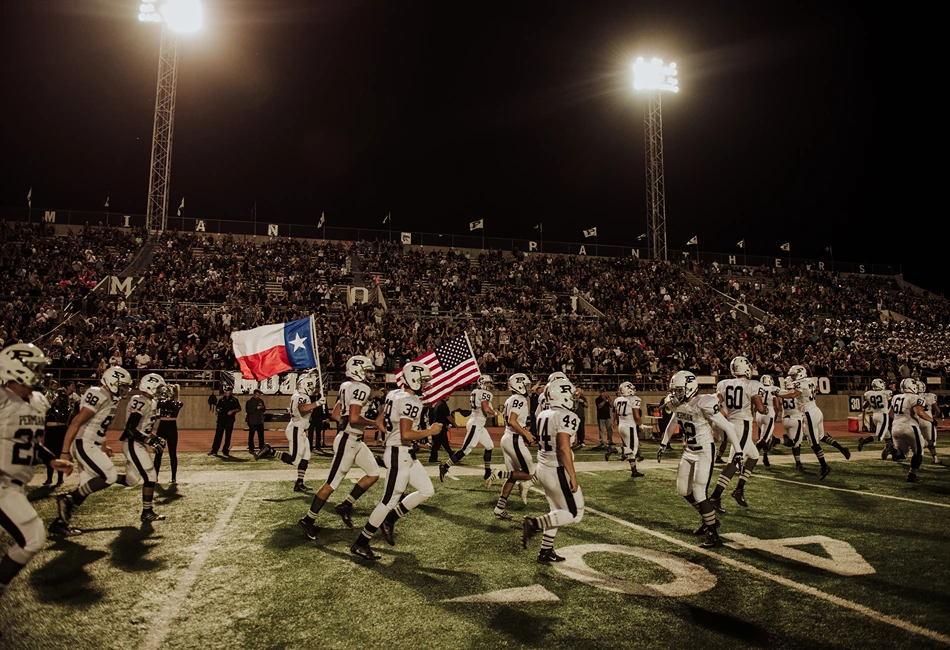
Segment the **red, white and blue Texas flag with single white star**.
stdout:
<svg viewBox="0 0 950 650">
<path fill-rule="evenodd" d="M 244 379 L 263 381 L 295 368 L 317 366 L 313 316 L 231 332 L 231 342 Z"/>
</svg>

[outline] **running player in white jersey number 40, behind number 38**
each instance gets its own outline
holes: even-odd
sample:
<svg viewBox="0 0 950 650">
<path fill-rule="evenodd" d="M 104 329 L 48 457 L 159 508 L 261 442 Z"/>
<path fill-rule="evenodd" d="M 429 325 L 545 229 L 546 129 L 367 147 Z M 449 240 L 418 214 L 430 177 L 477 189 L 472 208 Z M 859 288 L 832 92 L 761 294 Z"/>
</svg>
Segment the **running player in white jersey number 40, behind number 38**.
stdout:
<svg viewBox="0 0 950 650">
<path fill-rule="evenodd" d="M 317 515 L 354 463 L 363 470 L 363 477 L 353 486 L 346 500 L 336 506 L 336 513 L 347 528 L 353 527 L 353 504 L 379 479 L 379 465 L 363 442 L 363 427 L 373 426 L 373 421 L 363 415 L 372 392 L 366 381 L 373 370 L 373 362 L 361 355 L 350 357 L 346 362 L 344 372 L 349 381 L 340 385 L 340 399 L 330 415 L 340 423 L 343 432 L 333 439 L 333 462 L 326 483 L 313 495 L 307 515 L 297 522 L 310 539 L 316 539 L 320 531 L 315 524 Z"/>
</svg>

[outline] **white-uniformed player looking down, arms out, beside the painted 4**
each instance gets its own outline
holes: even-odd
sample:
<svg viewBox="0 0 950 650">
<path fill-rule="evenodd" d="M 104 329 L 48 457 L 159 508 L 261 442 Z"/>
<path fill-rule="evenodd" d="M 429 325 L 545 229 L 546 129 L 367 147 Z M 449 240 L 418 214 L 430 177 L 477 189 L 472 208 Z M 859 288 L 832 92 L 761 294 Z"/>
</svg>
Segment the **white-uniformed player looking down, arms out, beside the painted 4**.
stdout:
<svg viewBox="0 0 950 650">
<path fill-rule="evenodd" d="M 686 370 L 680 370 L 670 379 L 670 395 L 666 401 L 674 408 L 673 416 L 663 432 L 660 450 L 656 453 L 656 461 L 663 459 L 663 453 L 670 444 L 670 438 L 676 431 L 677 425 L 683 434 L 686 449 L 680 459 L 679 470 L 676 475 L 676 491 L 687 503 L 696 508 L 702 516 L 702 524 L 694 532 L 705 535 L 700 543 L 702 548 L 722 546 L 719 538 L 719 522 L 716 521 L 716 508 L 710 502 L 706 490 L 712 478 L 713 459 L 716 455 L 716 442 L 713 437 L 713 426 L 718 427 L 726 435 L 736 453 L 732 462 L 742 464 L 742 445 L 735 427 L 719 410 L 717 395 L 697 395 L 699 383 L 696 375 Z"/>
</svg>

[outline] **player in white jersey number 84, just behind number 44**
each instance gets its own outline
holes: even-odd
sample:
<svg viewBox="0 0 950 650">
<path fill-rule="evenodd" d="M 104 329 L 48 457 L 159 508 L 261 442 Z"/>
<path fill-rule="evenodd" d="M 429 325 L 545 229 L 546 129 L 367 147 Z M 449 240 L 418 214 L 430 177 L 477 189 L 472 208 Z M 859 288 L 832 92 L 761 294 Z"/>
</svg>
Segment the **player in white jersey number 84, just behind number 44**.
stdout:
<svg viewBox="0 0 950 650">
<path fill-rule="evenodd" d="M 511 397 L 505 401 L 505 433 L 501 437 L 501 451 L 505 456 L 505 469 L 496 474 L 499 480 L 505 481 L 501 488 L 501 496 L 495 504 L 495 516 L 499 519 L 511 519 L 508 512 L 508 495 L 515 487 L 516 481 L 521 481 L 521 502 L 528 503 L 528 491 L 538 478 L 534 473 L 534 462 L 531 459 L 531 450 L 528 445 L 534 444 L 534 436 L 525 426 L 528 423 L 528 385 L 531 379 L 523 372 L 517 372 L 508 378 L 508 388 Z"/>
</svg>

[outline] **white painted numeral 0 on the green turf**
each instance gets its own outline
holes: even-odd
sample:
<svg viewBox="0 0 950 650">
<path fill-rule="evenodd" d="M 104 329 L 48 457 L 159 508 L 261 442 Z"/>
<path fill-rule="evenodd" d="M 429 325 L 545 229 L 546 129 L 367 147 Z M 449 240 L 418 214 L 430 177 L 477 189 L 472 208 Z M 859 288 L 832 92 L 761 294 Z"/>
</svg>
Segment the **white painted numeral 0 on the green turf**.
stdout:
<svg viewBox="0 0 950 650">
<path fill-rule="evenodd" d="M 580 544 L 558 549 L 558 552 L 564 556 L 564 562 L 551 565 L 558 573 L 583 582 L 591 587 L 603 589 L 604 591 L 613 591 L 631 596 L 682 597 L 694 596 L 704 591 L 709 591 L 716 586 L 717 582 L 715 575 L 698 564 L 687 562 L 669 553 L 654 551 L 653 549 L 642 548 L 640 546 Z M 584 556 L 588 553 L 620 553 L 621 555 L 630 555 L 660 565 L 672 573 L 675 578 L 672 582 L 663 584 L 640 584 L 632 580 L 615 578 L 596 569 L 592 569 L 587 562 L 584 561 Z"/>
</svg>

